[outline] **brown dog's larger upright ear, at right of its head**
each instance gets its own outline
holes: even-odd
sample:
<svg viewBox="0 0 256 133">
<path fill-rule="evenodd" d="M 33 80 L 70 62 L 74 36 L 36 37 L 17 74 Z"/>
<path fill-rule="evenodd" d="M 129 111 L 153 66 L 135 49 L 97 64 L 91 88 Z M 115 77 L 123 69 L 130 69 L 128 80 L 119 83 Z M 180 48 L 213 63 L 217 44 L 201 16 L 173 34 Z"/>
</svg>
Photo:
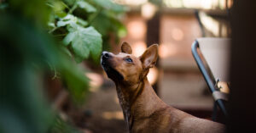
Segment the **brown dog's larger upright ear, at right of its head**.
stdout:
<svg viewBox="0 0 256 133">
<path fill-rule="evenodd" d="M 143 68 L 144 69 L 153 68 L 157 58 L 158 58 L 158 45 L 154 44 L 148 47 L 148 49 L 140 57 L 143 63 Z"/>
</svg>

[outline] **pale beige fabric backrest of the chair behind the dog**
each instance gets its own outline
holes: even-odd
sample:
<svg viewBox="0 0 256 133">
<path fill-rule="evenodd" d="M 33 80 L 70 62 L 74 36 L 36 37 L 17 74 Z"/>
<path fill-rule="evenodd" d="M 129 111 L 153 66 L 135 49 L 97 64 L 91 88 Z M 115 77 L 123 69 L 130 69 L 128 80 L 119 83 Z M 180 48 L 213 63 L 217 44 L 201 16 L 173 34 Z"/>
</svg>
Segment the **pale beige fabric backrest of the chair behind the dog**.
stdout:
<svg viewBox="0 0 256 133">
<path fill-rule="evenodd" d="M 198 38 L 199 48 L 214 78 L 230 81 L 230 42 L 229 38 Z"/>
</svg>

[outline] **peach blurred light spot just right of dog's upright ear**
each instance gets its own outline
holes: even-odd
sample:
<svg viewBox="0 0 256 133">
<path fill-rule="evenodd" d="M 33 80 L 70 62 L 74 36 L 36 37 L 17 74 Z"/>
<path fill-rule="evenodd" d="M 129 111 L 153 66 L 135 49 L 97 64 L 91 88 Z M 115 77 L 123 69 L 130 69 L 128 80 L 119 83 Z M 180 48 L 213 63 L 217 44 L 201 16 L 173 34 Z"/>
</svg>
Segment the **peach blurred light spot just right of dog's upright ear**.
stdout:
<svg viewBox="0 0 256 133">
<path fill-rule="evenodd" d="M 177 47 L 174 44 L 161 44 L 159 47 L 160 58 L 168 58 L 177 53 Z"/>
</svg>

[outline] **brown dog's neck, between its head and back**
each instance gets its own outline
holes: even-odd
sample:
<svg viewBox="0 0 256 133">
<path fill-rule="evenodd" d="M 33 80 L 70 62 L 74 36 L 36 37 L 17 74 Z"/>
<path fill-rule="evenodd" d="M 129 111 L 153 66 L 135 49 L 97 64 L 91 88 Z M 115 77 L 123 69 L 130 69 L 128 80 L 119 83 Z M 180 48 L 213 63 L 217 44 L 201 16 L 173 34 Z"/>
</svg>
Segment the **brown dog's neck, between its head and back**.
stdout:
<svg viewBox="0 0 256 133">
<path fill-rule="evenodd" d="M 147 78 L 132 86 L 120 82 L 115 84 L 129 130 L 132 128 L 133 119 L 147 118 L 156 110 L 167 107 L 155 94 Z"/>
</svg>

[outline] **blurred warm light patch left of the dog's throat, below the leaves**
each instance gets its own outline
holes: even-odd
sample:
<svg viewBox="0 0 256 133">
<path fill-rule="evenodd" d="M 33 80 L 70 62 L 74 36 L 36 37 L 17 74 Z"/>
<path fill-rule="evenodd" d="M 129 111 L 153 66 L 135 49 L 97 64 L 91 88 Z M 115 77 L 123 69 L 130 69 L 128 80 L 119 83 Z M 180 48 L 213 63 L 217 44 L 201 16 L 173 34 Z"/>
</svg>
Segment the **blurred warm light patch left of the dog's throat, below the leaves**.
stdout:
<svg viewBox="0 0 256 133">
<path fill-rule="evenodd" d="M 102 75 L 96 73 L 86 73 L 85 75 L 90 79 L 90 91 L 98 91 L 103 84 Z"/>
</svg>

